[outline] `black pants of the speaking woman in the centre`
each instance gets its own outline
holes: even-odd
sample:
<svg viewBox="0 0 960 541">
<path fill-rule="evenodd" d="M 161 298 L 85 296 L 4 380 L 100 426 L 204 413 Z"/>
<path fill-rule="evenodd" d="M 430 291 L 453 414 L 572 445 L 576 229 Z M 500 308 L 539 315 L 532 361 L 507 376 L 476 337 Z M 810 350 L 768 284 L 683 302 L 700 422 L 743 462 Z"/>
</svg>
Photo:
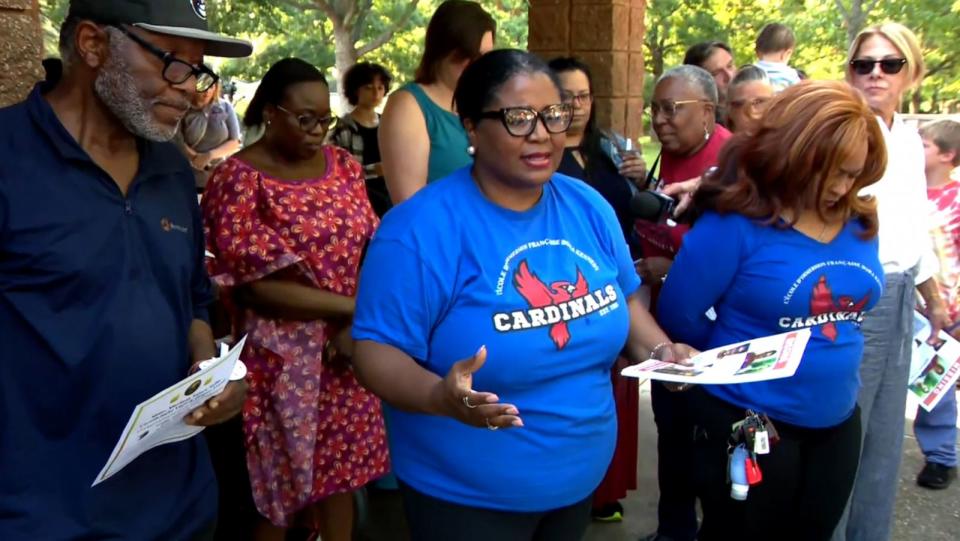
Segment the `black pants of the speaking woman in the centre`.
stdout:
<svg viewBox="0 0 960 541">
<path fill-rule="evenodd" d="M 590 523 L 592 495 L 551 511 L 512 513 L 440 500 L 402 481 L 400 494 L 412 541 L 580 541 Z"/>
</svg>

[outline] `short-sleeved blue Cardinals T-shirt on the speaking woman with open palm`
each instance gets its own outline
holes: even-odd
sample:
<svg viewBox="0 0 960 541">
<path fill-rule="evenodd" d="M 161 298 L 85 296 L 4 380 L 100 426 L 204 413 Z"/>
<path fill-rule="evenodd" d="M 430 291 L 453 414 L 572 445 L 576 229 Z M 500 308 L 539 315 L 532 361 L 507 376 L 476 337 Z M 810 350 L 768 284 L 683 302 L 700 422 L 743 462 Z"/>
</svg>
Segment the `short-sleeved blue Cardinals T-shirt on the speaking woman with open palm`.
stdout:
<svg viewBox="0 0 960 541">
<path fill-rule="evenodd" d="M 464 168 L 391 210 L 361 272 L 354 338 L 441 376 L 486 345 L 474 388 L 515 404 L 525 425 L 490 431 L 388 407 L 397 477 L 490 509 L 586 498 L 616 443 L 610 369 L 639 285 L 610 205 L 570 177 L 554 175 L 515 212 Z"/>
</svg>

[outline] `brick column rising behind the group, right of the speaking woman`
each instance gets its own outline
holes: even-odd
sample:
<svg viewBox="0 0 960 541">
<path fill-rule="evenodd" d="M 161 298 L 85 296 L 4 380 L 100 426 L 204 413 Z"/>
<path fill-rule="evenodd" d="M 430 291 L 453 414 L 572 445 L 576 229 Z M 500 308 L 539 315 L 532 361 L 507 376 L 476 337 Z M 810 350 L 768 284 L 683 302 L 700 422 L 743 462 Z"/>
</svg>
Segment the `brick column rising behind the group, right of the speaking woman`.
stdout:
<svg viewBox="0 0 960 541">
<path fill-rule="evenodd" d="M 598 125 L 629 137 L 643 129 L 646 6 L 647 0 L 530 0 L 530 51 L 586 62 Z"/>
</svg>

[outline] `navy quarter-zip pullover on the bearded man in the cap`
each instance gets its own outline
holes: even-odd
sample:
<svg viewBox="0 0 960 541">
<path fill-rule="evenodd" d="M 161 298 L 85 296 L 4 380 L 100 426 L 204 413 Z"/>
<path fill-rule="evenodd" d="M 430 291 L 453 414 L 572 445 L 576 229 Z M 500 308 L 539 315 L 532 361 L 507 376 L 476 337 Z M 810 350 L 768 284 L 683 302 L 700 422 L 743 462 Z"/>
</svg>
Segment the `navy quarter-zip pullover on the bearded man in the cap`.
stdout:
<svg viewBox="0 0 960 541">
<path fill-rule="evenodd" d="M 124 197 L 39 89 L 0 126 L 0 539 L 193 539 L 217 510 L 202 437 L 90 486 L 207 317 L 190 166 L 139 141 Z"/>
</svg>

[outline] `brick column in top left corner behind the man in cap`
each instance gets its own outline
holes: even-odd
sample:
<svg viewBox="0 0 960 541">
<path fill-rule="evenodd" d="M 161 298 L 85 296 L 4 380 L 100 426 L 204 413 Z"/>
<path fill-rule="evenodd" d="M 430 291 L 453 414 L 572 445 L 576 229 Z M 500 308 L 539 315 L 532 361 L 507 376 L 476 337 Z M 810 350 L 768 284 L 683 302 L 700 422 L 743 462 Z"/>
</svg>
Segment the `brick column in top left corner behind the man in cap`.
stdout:
<svg viewBox="0 0 960 541">
<path fill-rule="evenodd" d="M 0 107 L 23 100 L 43 77 L 38 0 L 0 0 Z"/>
</svg>

